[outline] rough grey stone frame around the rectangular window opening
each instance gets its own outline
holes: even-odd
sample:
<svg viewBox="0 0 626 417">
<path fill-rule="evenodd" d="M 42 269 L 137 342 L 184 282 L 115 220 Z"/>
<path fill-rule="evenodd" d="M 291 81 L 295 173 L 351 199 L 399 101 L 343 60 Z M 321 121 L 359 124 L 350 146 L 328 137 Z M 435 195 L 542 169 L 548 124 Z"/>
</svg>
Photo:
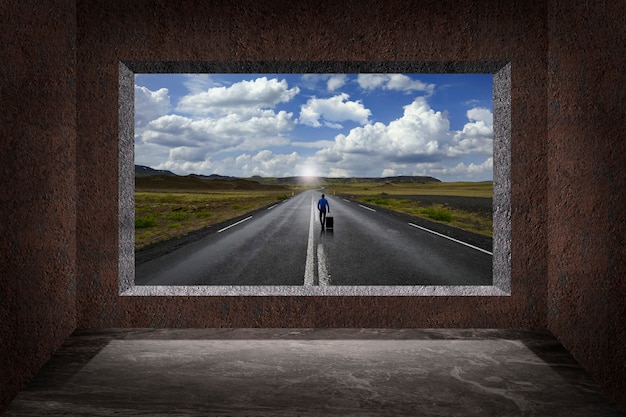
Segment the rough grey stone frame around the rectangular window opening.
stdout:
<svg viewBox="0 0 626 417">
<path fill-rule="evenodd" d="M 134 75 L 136 73 L 493 74 L 493 285 L 136 286 Z M 510 296 L 510 62 L 119 62 L 119 295 L 121 296 Z"/>
</svg>

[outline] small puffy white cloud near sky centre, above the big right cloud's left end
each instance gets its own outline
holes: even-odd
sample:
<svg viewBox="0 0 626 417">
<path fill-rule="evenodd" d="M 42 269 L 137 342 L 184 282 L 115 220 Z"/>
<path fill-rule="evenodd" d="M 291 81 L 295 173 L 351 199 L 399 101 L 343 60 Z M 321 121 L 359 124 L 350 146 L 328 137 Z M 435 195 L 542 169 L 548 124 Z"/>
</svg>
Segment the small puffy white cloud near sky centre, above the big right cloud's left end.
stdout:
<svg viewBox="0 0 626 417">
<path fill-rule="evenodd" d="M 332 128 L 341 128 L 338 122 L 346 120 L 366 124 L 372 112 L 361 101 L 350 101 L 349 98 L 346 93 L 330 98 L 313 97 L 300 108 L 299 121 L 308 126 Z"/>
</svg>

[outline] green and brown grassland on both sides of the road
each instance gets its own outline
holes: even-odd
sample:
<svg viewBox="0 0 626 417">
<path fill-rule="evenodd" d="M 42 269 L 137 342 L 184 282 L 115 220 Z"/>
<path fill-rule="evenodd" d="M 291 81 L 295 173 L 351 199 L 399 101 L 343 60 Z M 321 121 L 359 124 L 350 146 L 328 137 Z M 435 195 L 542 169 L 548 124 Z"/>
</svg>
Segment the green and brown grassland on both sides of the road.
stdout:
<svg viewBox="0 0 626 417">
<path fill-rule="evenodd" d="M 171 179 L 166 179 L 172 181 Z M 192 231 L 243 216 L 306 189 L 344 196 L 364 204 L 383 207 L 411 216 L 478 233 L 493 235 L 491 182 L 346 182 L 329 180 L 320 184 L 260 185 L 250 190 L 206 189 L 206 181 L 192 187 L 189 178 L 181 183 L 150 182 L 135 190 L 135 249 L 184 236 Z M 213 181 L 209 184 L 216 184 Z M 139 184 L 139 182 L 138 182 Z M 230 181 L 232 187 L 236 182 Z M 259 184 L 257 184 L 259 185 Z M 244 186 L 248 186 L 244 184 Z M 256 187 L 256 186 L 255 186 Z M 257 187 L 257 188 L 259 188 Z M 471 198 L 478 197 L 478 198 Z M 476 204 L 476 202 L 480 204 Z"/>
</svg>

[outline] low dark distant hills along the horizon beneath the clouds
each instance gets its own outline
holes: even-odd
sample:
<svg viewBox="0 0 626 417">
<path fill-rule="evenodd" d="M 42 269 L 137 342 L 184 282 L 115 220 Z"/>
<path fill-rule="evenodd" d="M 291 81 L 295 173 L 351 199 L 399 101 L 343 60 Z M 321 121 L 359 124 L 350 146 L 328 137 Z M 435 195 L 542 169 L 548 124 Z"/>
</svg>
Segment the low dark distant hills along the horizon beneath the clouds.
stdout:
<svg viewBox="0 0 626 417">
<path fill-rule="evenodd" d="M 137 189 L 178 189 L 178 190 L 258 190 L 258 189 L 285 189 L 285 186 L 300 184 L 355 184 L 355 183 L 420 183 L 441 182 L 437 178 L 426 176 L 394 176 L 394 177 L 351 177 L 351 178 L 330 178 L 319 177 L 309 178 L 303 176 L 295 177 L 260 177 L 255 175 L 250 178 L 236 178 L 223 175 L 176 175 L 171 171 L 157 170 L 150 167 L 135 165 L 135 187 Z M 269 188 L 268 188 L 269 187 Z"/>
</svg>

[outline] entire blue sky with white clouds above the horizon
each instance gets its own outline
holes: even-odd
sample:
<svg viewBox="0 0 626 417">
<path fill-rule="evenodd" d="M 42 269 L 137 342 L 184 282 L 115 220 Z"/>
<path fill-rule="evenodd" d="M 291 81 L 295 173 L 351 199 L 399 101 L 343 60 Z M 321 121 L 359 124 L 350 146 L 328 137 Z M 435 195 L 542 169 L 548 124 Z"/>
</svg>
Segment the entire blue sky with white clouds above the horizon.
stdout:
<svg viewBox="0 0 626 417">
<path fill-rule="evenodd" d="M 492 74 L 136 74 L 135 163 L 179 175 L 493 178 Z"/>
</svg>

